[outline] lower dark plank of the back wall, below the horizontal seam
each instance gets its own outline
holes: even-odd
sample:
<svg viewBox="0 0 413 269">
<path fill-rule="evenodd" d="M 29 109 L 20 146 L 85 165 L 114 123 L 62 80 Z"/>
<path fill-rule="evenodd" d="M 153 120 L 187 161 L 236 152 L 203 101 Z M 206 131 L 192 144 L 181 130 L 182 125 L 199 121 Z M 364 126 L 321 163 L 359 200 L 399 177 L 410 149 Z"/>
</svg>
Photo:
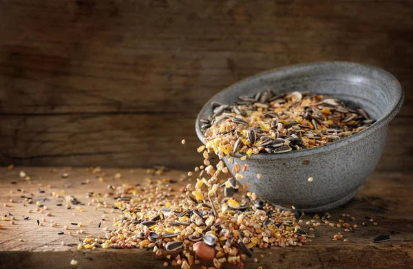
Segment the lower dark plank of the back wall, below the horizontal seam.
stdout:
<svg viewBox="0 0 413 269">
<path fill-rule="evenodd" d="M 195 150 L 193 118 L 176 114 L 84 114 L 8 116 L 0 121 L 3 165 L 141 166 L 192 170 L 202 164 Z M 413 162 L 413 118 L 395 118 L 377 166 L 408 170 Z M 187 143 L 180 141 L 185 138 Z"/>
</svg>

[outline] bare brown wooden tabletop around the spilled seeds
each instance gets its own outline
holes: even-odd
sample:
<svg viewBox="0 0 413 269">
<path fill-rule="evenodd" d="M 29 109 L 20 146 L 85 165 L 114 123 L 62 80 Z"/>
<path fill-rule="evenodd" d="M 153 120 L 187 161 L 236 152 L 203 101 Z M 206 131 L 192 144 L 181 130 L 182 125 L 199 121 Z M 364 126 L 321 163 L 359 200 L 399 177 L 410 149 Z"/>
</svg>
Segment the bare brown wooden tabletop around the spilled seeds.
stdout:
<svg viewBox="0 0 413 269">
<path fill-rule="evenodd" d="M 19 177 L 19 171 L 25 171 L 32 178 L 32 184 L 28 184 Z M 69 173 L 69 177 L 62 178 L 63 173 Z M 67 232 L 63 226 L 70 226 L 70 231 L 75 233 L 80 229 L 72 226 L 72 222 L 82 222 L 81 228 L 86 235 L 103 235 L 105 226 L 112 226 L 113 218 L 118 213 L 110 213 L 110 208 L 94 209 L 87 206 L 90 198 L 85 195 L 89 191 L 106 193 L 108 184 L 142 182 L 147 177 L 145 171 L 135 169 L 131 173 L 129 169 L 103 169 L 105 182 L 100 182 L 91 170 L 85 169 L 58 169 L 56 173 L 50 173 L 47 168 L 16 168 L 8 170 L 0 169 L 0 213 L 8 215 L 12 213 L 16 217 L 16 224 L 9 221 L 1 221 L 3 228 L 0 230 L 0 268 L 67 268 L 70 261 L 78 261 L 77 268 L 162 268 L 165 261 L 163 257 L 156 257 L 151 251 L 140 249 L 123 250 L 77 250 L 76 247 L 61 246 L 61 241 L 67 244 L 78 244 L 78 238 L 85 235 L 58 235 L 59 232 Z M 114 174 L 120 172 L 120 180 L 114 180 Z M 178 178 L 180 171 L 171 171 L 165 175 Z M 326 224 L 316 228 L 321 237 L 314 237 L 313 241 L 303 247 L 279 248 L 259 250 L 255 248 L 254 255 L 259 262 L 253 263 L 251 259 L 246 263 L 246 268 L 412 268 L 413 263 L 413 182 L 412 173 L 374 173 L 363 184 L 357 196 L 345 206 L 332 211 L 331 222 L 338 223 L 341 213 L 349 213 L 356 217 L 355 222 L 359 227 L 354 233 L 344 233 L 343 228 L 331 227 Z M 89 184 L 81 184 L 89 179 Z M 17 184 L 10 184 L 17 182 Z M 39 193 L 39 184 L 45 193 Z M 50 188 L 48 185 L 52 185 Z M 174 189 L 183 186 L 187 182 L 172 185 Z M 17 191 L 23 189 L 24 193 Z M 74 208 L 67 210 L 64 206 L 56 206 L 59 201 L 52 197 L 53 191 L 59 193 L 65 190 L 65 194 L 74 195 L 80 202 L 85 212 Z M 10 193 L 13 191 L 13 193 Z M 20 195 L 34 194 L 34 204 L 23 206 Z M 45 202 L 43 199 L 47 198 Z M 14 199 L 14 203 L 9 200 Z M 45 213 L 27 213 L 28 209 L 35 209 L 37 200 L 41 200 L 50 208 L 52 217 L 46 217 L 45 226 L 37 226 L 36 220 L 45 217 Z M 107 201 L 109 207 L 114 202 L 113 198 L 100 198 Z M 11 204 L 4 207 L 3 204 Z M 65 205 L 65 202 L 63 202 Z M 105 222 L 102 215 L 105 211 Z M 372 226 L 365 217 L 374 218 L 378 226 Z M 24 220 L 24 217 L 29 217 Z M 10 219 L 10 216 L 8 216 Z M 50 227 L 50 220 L 54 219 L 58 226 Z M 304 223 L 310 216 L 304 216 Z M 89 225 L 89 220 L 92 224 Z M 348 220 L 346 220 L 348 221 Z M 98 223 L 102 222 L 100 228 Z M 368 227 L 362 227 L 361 222 L 368 222 Z M 303 224 L 305 230 L 308 226 Z M 342 232 L 349 243 L 332 241 L 335 233 Z M 390 241 L 380 244 L 372 243 L 372 238 L 387 233 Z M 23 241 L 19 241 L 23 239 Z M 260 254 L 264 258 L 260 258 Z"/>
</svg>

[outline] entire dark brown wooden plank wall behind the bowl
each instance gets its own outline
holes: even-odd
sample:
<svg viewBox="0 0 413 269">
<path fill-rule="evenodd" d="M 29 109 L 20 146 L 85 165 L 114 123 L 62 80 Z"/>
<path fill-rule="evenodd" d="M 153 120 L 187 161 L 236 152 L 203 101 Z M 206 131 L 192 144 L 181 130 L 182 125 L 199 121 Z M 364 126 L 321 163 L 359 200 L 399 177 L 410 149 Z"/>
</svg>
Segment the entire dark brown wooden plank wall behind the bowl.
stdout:
<svg viewBox="0 0 413 269">
<path fill-rule="evenodd" d="M 0 164 L 191 169 L 213 94 L 344 60 L 401 81 L 379 169 L 410 169 L 412 18 L 413 1 L 1 1 Z"/>
</svg>

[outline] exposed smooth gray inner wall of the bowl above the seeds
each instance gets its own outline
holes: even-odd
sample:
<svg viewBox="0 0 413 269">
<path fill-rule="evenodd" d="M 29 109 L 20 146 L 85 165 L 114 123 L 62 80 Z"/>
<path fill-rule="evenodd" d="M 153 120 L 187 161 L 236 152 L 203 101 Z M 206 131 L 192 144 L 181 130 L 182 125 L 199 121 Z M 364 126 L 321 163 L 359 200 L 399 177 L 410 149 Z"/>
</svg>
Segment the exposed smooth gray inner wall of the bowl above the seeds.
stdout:
<svg viewBox="0 0 413 269">
<path fill-rule="evenodd" d="M 195 123 L 200 140 L 204 138 L 200 131 L 200 119 L 211 114 L 212 101 L 231 104 L 235 103 L 240 95 L 252 96 L 267 89 L 276 94 L 293 91 L 328 94 L 346 101 L 352 107 L 361 107 L 371 118 L 377 120 L 372 127 L 361 133 L 387 125 L 403 104 L 401 85 L 392 74 L 383 69 L 348 62 L 293 65 L 246 78 L 213 96 L 202 108 Z"/>
</svg>

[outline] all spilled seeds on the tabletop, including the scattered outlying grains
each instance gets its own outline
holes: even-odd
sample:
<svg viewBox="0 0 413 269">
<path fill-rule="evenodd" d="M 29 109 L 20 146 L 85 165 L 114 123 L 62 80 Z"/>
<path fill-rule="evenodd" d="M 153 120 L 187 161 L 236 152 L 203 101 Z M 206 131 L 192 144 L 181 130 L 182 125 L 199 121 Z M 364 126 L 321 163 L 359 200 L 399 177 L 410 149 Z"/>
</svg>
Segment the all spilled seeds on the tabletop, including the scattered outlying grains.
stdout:
<svg viewBox="0 0 413 269">
<path fill-rule="evenodd" d="M 204 157 L 207 157 L 205 160 L 208 160 L 205 152 L 208 151 L 203 152 Z M 153 250 L 156 255 L 165 255 L 167 261 L 164 262 L 164 266 L 180 268 L 191 268 L 197 264 L 213 264 L 214 268 L 221 268 L 224 263 L 232 263 L 238 268 L 243 268 L 244 262 L 257 263 L 259 258 L 263 257 L 254 255 L 254 248 L 302 246 L 313 237 L 319 237 L 316 229 L 320 225 L 341 228 L 344 233 L 337 233 L 331 239 L 337 242 L 350 242 L 345 234 L 354 233 L 361 227 L 357 226 L 354 223 L 356 219 L 348 214 L 342 214 L 337 223 L 332 222 L 329 213 L 313 215 L 312 219 L 304 222 L 301 219 L 303 213 L 300 211 L 282 211 L 258 199 L 254 193 L 240 190 L 242 187 L 233 177 L 218 180 L 218 174 L 228 173 L 222 165 L 218 164 L 216 171 L 207 169 L 208 166 L 197 167 L 195 170 L 201 171 L 204 175 L 198 178 L 194 186 L 188 184 L 186 187 L 176 184 L 177 180 L 165 176 L 163 171 L 167 169 L 159 167 L 149 170 L 148 173 L 151 175 L 142 180 L 142 184 L 109 185 L 106 191 L 100 190 L 100 193 L 89 190 L 87 198 L 91 200 L 87 204 L 78 201 L 73 195 L 68 195 L 64 190 L 59 193 L 51 192 L 51 197 L 47 198 L 43 196 L 44 192 L 41 189 L 39 193 L 43 198 L 35 202 L 36 195 L 30 193 L 28 196 L 27 191 L 17 189 L 14 202 L 10 202 L 11 204 L 4 208 L 13 209 L 23 202 L 23 206 L 34 207 L 35 210 L 27 209 L 30 217 L 15 217 L 8 213 L 3 215 L 1 220 L 6 228 L 19 226 L 21 221 L 33 222 L 39 229 L 44 229 L 45 227 L 41 226 L 50 224 L 56 229 L 56 235 L 59 235 L 61 240 L 65 240 L 65 236 L 72 240 L 76 236 L 79 239 L 82 237 L 81 243 L 61 241 L 61 246 L 77 246 L 79 250 L 146 248 Z M 93 173 L 96 174 L 96 182 L 104 184 L 102 182 L 105 182 L 105 173 L 100 169 L 94 169 Z M 118 180 L 121 177 L 123 175 L 120 173 L 114 175 Z M 187 180 L 187 177 L 180 177 L 179 181 L 183 180 Z M 26 183 L 33 182 L 30 179 Z M 80 184 L 83 185 L 83 182 Z M 41 186 L 43 185 L 39 184 L 39 187 Z M 47 189 L 50 188 L 52 186 L 47 186 Z M 18 196 L 24 200 L 19 200 Z M 114 203 L 108 202 L 109 198 L 114 199 Z M 76 217 L 72 219 L 75 222 L 70 223 L 67 219 L 65 222 L 60 222 L 59 219 L 55 222 L 53 219 L 36 215 L 55 217 L 50 211 L 54 206 L 61 208 L 56 217 L 67 209 L 75 211 L 74 208 L 64 207 L 63 201 L 69 203 L 67 205 L 72 204 L 72 207 L 76 206 L 76 212 L 80 214 L 86 215 L 89 210 L 86 206 L 92 206 L 95 210 L 103 209 L 104 215 L 100 221 L 87 222 L 83 219 L 83 223 L 76 222 Z M 112 227 L 105 226 L 105 221 L 112 221 L 112 218 L 107 219 L 108 212 L 105 212 L 109 209 L 110 213 L 120 211 L 120 215 L 113 219 Z M 365 218 L 367 220 L 362 226 L 368 226 L 370 223 L 372 226 L 377 225 L 371 217 Z M 7 222 L 10 222 L 10 226 Z M 92 226 L 100 228 L 102 223 L 104 233 L 96 236 L 87 232 Z M 372 240 L 379 243 L 389 239 L 389 235 L 379 235 Z M 19 239 L 19 242 L 31 244 L 23 239 Z"/>
</svg>

